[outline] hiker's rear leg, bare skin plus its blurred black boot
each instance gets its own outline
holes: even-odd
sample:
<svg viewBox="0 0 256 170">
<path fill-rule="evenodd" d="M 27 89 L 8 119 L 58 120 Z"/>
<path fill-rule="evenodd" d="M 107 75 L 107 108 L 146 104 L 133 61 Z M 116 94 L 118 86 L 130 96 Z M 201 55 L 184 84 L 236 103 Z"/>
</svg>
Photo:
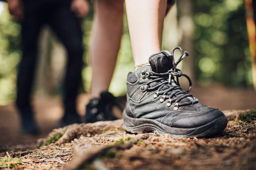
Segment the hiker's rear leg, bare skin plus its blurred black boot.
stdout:
<svg viewBox="0 0 256 170">
<path fill-rule="evenodd" d="M 123 33 L 124 0 L 96 0 L 90 58 L 92 99 L 86 105 L 85 122 L 114 120 L 116 98 L 108 92 Z"/>
</svg>

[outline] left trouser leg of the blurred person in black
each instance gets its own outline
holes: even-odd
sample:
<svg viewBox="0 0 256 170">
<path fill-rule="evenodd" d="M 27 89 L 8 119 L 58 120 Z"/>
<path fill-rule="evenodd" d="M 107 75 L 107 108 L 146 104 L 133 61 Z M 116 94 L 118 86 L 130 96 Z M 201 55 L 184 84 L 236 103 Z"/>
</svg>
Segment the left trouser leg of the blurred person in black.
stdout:
<svg viewBox="0 0 256 170">
<path fill-rule="evenodd" d="M 42 23 L 36 16 L 25 16 L 21 23 L 22 58 L 18 69 L 16 104 L 21 114 L 31 114 L 30 94 L 34 79 L 37 39 Z"/>
</svg>

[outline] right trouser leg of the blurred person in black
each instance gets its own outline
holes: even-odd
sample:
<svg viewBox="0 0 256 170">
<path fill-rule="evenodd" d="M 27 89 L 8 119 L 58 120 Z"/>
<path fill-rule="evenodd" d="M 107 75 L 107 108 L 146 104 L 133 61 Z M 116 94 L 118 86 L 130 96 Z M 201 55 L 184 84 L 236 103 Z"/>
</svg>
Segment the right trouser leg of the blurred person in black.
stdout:
<svg viewBox="0 0 256 170">
<path fill-rule="evenodd" d="M 65 113 L 76 112 L 76 97 L 81 84 L 83 34 L 81 22 L 70 11 L 69 4 L 60 5 L 52 15 L 50 25 L 68 52 L 67 71 L 64 82 Z"/>
</svg>

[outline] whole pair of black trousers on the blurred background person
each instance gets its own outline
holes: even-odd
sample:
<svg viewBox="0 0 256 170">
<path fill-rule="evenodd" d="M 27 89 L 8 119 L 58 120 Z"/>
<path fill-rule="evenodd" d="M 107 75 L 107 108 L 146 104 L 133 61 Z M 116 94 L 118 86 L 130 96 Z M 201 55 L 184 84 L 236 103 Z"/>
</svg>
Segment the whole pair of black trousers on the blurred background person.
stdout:
<svg viewBox="0 0 256 170">
<path fill-rule="evenodd" d="M 64 105 L 66 112 L 75 112 L 83 63 L 80 20 L 70 11 L 68 0 L 24 0 L 23 2 L 24 19 L 21 24 L 23 54 L 18 71 L 17 107 L 23 115 L 32 112 L 30 94 L 35 73 L 38 35 L 42 26 L 48 24 L 68 52 Z"/>
</svg>

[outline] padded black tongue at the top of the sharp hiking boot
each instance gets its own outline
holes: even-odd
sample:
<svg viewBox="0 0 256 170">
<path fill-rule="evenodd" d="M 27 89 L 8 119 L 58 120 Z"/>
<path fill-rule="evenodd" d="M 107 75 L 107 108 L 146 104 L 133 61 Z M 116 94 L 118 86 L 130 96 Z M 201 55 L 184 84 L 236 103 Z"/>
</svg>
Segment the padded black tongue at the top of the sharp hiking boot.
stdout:
<svg viewBox="0 0 256 170">
<path fill-rule="evenodd" d="M 166 73 L 173 68 L 170 52 L 161 51 L 149 57 L 148 62 L 155 73 Z"/>
</svg>

